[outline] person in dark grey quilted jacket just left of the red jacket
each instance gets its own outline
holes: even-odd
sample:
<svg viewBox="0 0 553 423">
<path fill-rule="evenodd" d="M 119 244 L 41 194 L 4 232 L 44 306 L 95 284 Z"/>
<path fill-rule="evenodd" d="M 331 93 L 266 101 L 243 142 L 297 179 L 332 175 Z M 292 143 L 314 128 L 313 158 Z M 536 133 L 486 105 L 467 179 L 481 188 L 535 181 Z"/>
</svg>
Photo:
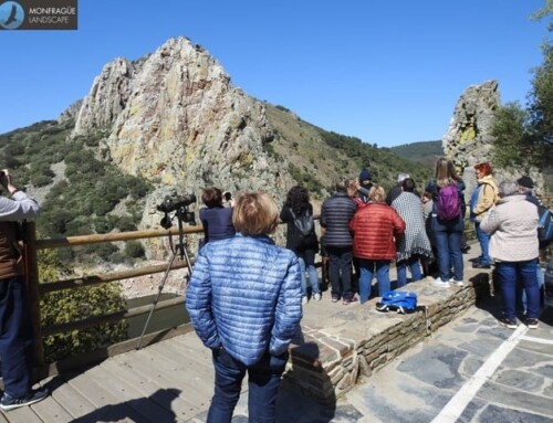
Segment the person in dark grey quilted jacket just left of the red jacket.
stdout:
<svg viewBox="0 0 553 423">
<path fill-rule="evenodd" d="M 336 183 L 336 193 L 323 202 L 321 226 L 325 229 L 324 245 L 330 260 L 332 302 L 342 296 L 343 304 L 355 303 L 352 292 L 352 233 L 349 221 L 357 210 L 357 204 L 347 194 L 348 180 Z M 340 284 L 342 274 L 342 285 Z"/>
</svg>

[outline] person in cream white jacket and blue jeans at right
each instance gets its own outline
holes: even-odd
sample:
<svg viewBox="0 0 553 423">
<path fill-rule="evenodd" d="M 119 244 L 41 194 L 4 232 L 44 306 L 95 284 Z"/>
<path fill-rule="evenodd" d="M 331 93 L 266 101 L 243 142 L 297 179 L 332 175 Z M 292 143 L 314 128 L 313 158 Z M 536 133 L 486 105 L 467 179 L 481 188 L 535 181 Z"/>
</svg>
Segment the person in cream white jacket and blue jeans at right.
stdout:
<svg viewBox="0 0 553 423">
<path fill-rule="evenodd" d="M 503 316 L 500 324 L 517 328 L 517 281 L 526 293 L 525 324 L 538 327 L 540 290 L 538 288 L 538 208 L 519 193 L 513 181 L 499 184 L 500 200 L 480 222 L 480 229 L 491 235 L 490 256 L 501 286 Z"/>
</svg>

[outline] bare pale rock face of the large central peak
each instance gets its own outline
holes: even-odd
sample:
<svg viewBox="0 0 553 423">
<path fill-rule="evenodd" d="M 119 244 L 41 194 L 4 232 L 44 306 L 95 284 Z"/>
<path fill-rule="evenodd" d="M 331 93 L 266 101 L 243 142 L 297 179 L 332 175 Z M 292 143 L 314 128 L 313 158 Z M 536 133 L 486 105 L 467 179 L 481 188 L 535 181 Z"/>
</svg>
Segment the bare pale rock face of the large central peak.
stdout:
<svg viewBox="0 0 553 423">
<path fill-rule="evenodd" d="M 264 105 L 233 87 L 217 61 L 185 38 L 168 40 L 137 62 L 116 59 L 104 67 L 73 136 L 98 133 L 103 159 L 157 188 L 144 228 L 158 228 L 152 210 L 168 187 L 198 197 L 217 186 L 284 198 L 293 183 L 263 149 L 273 139 Z"/>
</svg>

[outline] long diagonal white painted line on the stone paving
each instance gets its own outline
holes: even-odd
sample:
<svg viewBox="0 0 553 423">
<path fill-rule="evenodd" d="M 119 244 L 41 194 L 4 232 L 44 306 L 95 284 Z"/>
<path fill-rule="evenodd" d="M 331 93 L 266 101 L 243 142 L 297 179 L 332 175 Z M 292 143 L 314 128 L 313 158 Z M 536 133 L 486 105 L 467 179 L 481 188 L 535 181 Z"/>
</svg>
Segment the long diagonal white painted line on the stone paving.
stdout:
<svg viewBox="0 0 553 423">
<path fill-rule="evenodd" d="M 528 327 L 520 325 L 513 335 L 509 337 L 492 355 L 486 360 L 480 369 L 465 383 L 461 389 L 449 400 L 446 406 L 432 420 L 432 423 L 455 423 L 459 420 L 463 410 L 474 398 L 478 390 L 490 379 L 497 368 L 505 359 L 514 347 L 523 338 Z"/>
</svg>

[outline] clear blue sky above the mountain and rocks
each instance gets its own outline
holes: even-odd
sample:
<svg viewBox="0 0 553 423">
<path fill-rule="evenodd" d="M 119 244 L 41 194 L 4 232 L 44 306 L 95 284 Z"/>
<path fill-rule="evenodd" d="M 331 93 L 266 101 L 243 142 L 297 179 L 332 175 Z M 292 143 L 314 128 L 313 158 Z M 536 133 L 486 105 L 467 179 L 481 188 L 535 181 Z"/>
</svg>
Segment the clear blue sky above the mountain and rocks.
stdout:
<svg viewBox="0 0 553 423">
<path fill-rule="evenodd" d="M 56 118 L 113 59 L 185 35 L 246 93 L 324 129 L 441 139 L 470 85 L 497 80 L 503 103 L 525 103 L 544 1 L 80 0 L 76 31 L 0 31 L 0 134 Z"/>
</svg>

